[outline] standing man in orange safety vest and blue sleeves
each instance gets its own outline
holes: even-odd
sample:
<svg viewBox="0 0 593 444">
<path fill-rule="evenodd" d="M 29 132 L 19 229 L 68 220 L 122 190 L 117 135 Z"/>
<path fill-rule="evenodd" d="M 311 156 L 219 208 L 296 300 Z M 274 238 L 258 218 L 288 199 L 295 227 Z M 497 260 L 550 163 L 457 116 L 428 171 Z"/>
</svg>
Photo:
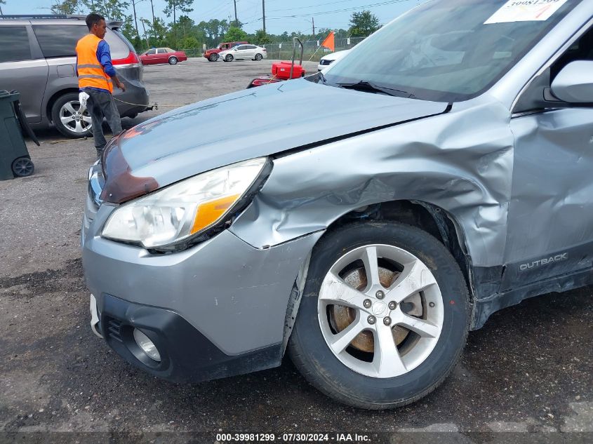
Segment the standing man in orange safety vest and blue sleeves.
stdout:
<svg viewBox="0 0 593 444">
<path fill-rule="evenodd" d="M 89 34 L 76 43 L 76 75 L 79 90 L 88 94 L 86 107 L 91 114 L 97 156 L 101 156 L 107 144 L 103 118 L 107 119 L 113 135 L 121 133 L 121 120 L 112 96 L 113 83 L 122 91 L 126 90 L 126 86 L 117 78 L 109 45 L 103 40 L 107 32 L 105 18 L 90 13 L 86 16 L 86 26 Z M 82 115 L 79 118 L 82 119 Z"/>
</svg>

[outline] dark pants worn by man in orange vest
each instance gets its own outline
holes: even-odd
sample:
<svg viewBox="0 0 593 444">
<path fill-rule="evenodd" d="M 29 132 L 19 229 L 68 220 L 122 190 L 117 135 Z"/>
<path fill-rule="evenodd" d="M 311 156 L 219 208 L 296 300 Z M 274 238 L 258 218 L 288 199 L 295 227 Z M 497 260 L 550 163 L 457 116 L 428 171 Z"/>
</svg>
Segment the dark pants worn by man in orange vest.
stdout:
<svg viewBox="0 0 593 444">
<path fill-rule="evenodd" d="M 115 102 L 111 94 L 107 91 L 99 91 L 86 88 L 84 90 L 90 97 L 86 100 L 86 108 L 88 114 L 91 114 L 91 121 L 93 122 L 93 137 L 95 137 L 95 148 L 97 155 L 100 156 L 105 149 L 107 140 L 103 135 L 103 118 L 107 119 L 107 124 L 111 128 L 113 135 L 121 133 L 121 118 L 115 106 Z"/>
</svg>

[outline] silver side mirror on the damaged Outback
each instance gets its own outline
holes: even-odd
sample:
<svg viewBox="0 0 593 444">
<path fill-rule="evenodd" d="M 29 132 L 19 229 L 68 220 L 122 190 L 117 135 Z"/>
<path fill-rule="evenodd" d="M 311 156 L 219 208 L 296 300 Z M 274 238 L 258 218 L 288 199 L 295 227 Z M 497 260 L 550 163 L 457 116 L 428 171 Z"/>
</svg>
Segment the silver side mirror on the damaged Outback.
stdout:
<svg viewBox="0 0 593 444">
<path fill-rule="evenodd" d="M 593 103 L 593 61 L 578 60 L 566 65 L 550 90 L 563 102 Z"/>
</svg>

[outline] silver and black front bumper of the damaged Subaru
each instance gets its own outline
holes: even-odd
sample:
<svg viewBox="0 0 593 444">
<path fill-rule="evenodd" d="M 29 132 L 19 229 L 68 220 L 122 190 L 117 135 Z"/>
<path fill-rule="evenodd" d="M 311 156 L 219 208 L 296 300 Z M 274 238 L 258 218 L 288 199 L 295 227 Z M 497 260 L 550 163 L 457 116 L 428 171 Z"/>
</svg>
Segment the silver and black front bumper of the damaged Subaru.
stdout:
<svg viewBox="0 0 593 444">
<path fill-rule="evenodd" d="M 280 364 L 291 290 L 321 233 L 258 249 L 227 230 L 180 253 L 151 255 L 100 237 L 114 206 L 88 198 L 86 207 L 81 246 L 98 330 L 126 361 L 173 381 Z M 135 354 L 133 328 L 153 340 L 161 364 Z"/>
</svg>

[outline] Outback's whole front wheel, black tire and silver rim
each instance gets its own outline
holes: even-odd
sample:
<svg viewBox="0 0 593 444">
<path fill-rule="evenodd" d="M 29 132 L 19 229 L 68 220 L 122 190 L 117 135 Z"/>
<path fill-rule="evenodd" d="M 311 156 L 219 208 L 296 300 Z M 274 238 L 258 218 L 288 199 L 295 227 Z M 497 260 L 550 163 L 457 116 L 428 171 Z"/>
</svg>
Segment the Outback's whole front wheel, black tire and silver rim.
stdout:
<svg viewBox="0 0 593 444">
<path fill-rule="evenodd" d="M 348 224 L 314 248 L 289 354 L 307 381 L 341 403 L 406 405 L 460 358 L 469 295 L 436 238 L 397 222 Z"/>
</svg>

